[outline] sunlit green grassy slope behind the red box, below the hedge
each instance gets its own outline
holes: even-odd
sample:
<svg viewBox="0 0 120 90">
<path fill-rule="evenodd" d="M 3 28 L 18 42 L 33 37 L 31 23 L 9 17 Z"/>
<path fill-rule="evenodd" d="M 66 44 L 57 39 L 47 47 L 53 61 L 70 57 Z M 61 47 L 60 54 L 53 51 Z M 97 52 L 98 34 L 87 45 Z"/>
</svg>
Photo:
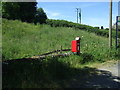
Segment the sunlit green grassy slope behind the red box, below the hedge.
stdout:
<svg viewBox="0 0 120 90">
<path fill-rule="evenodd" d="M 3 59 L 16 59 L 40 55 L 48 51 L 71 48 L 71 41 L 81 37 L 81 52 L 96 59 L 110 59 L 108 38 L 82 30 L 48 25 L 27 24 L 20 21 L 2 21 Z M 114 46 L 113 39 L 113 46 Z M 114 49 L 114 48 L 113 48 Z M 112 58 L 115 53 L 113 50 Z"/>
</svg>

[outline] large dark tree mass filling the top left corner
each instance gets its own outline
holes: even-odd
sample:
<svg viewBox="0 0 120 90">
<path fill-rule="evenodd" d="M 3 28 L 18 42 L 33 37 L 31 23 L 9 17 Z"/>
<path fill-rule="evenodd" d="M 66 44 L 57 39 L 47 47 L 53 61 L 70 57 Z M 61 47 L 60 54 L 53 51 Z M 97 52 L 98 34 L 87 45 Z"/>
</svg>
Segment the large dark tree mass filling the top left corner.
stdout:
<svg viewBox="0 0 120 90">
<path fill-rule="evenodd" d="M 37 2 L 3 2 L 2 17 L 19 19 L 23 22 L 33 22 Z"/>
</svg>

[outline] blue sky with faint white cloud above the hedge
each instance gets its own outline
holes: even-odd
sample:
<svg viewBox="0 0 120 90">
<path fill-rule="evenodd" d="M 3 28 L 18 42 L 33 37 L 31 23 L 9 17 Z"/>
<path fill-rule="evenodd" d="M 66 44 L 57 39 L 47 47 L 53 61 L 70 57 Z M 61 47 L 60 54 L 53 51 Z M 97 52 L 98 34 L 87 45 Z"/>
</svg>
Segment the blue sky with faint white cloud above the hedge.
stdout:
<svg viewBox="0 0 120 90">
<path fill-rule="evenodd" d="M 81 8 L 82 24 L 109 27 L 109 2 L 38 2 L 49 19 L 77 22 L 76 8 Z M 118 16 L 118 2 L 113 2 L 112 21 Z"/>
</svg>

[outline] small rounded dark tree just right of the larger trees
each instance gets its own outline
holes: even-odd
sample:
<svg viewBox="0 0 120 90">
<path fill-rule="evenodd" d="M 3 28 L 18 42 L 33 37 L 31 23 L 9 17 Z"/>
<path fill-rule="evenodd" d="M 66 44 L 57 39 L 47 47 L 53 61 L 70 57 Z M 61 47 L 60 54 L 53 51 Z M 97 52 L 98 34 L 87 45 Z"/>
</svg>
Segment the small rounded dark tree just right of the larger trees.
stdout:
<svg viewBox="0 0 120 90">
<path fill-rule="evenodd" d="M 38 8 L 36 15 L 35 15 L 35 24 L 37 24 L 38 22 L 40 24 L 46 23 L 46 19 L 47 19 L 47 15 L 44 12 L 44 10 L 42 8 Z"/>
</svg>

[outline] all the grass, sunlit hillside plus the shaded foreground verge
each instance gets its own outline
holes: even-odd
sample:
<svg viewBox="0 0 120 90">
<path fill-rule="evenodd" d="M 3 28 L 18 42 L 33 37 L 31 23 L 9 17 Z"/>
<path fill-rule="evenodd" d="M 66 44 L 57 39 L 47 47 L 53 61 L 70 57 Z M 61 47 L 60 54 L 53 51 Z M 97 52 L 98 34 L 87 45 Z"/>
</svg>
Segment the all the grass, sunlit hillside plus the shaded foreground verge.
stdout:
<svg viewBox="0 0 120 90">
<path fill-rule="evenodd" d="M 61 45 L 63 48 L 71 48 L 71 41 L 76 36 L 81 37 L 80 55 L 3 63 L 3 88 L 68 88 L 73 82 L 76 83 L 75 80 L 80 81 L 79 84 L 84 87 L 87 79 L 97 73 L 89 65 L 95 61 L 118 59 L 120 56 L 114 48 L 109 52 L 108 38 L 94 33 L 3 19 L 3 60 L 40 55 L 60 49 Z"/>
</svg>

